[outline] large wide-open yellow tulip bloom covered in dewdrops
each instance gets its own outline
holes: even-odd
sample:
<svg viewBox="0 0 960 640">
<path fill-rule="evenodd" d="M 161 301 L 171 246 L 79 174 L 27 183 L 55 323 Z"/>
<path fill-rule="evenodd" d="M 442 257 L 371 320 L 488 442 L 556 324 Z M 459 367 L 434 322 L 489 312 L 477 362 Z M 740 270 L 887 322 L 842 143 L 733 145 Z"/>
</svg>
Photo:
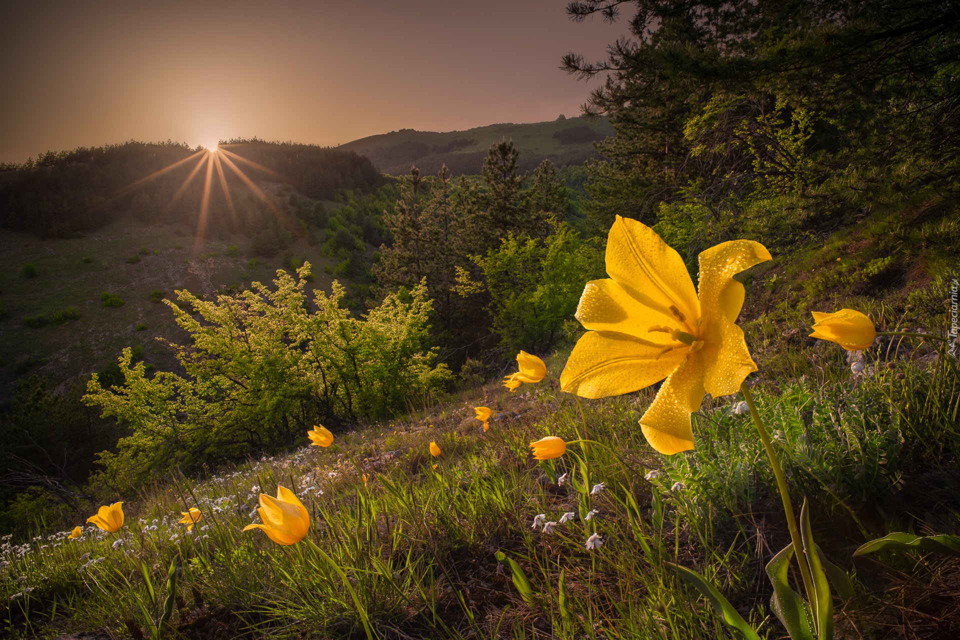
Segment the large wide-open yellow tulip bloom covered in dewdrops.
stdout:
<svg viewBox="0 0 960 640">
<path fill-rule="evenodd" d="M 566 362 L 561 389 L 600 398 L 666 378 L 640 427 L 660 453 L 692 449 L 690 414 L 704 393 L 735 393 L 756 371 L 733 323 L 744 289 L 732 276 L 770 259 L 750 240 L 705 250 L 698 296 L 677 251 L 649 226 L 617 216 L 607 241 L 610 278 L 584 288 L 576 317 L 589 331 Z"/>
</svg>

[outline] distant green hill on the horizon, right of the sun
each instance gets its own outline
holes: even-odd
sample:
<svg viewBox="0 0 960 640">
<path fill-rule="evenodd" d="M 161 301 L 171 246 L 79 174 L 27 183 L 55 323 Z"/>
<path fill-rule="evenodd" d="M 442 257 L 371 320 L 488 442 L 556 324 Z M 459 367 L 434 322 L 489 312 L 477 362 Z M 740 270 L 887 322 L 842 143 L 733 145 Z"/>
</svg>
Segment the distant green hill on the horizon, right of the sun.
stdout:
<svg viewBox="0 0 960 640">
<path fill-rule="evenodd" d="M 520 152 L 520 171 L 533 171 L 543 158 L 557 167 L 583 164 L 598 157 L 593 142 L 614 135 L 607 120 L 590 123 L 567 118 L 531 124 L 506 123 L 463 131 L 418 131 L 401 129 L 370 135 L 337 147 L 366 155 L 385 174 L 410 173 L 411 165 L 421 175 L 436 174 L 446 164 L 454 176 L 480 173 L 491 143 L 513 139 Z"/>
</svg>

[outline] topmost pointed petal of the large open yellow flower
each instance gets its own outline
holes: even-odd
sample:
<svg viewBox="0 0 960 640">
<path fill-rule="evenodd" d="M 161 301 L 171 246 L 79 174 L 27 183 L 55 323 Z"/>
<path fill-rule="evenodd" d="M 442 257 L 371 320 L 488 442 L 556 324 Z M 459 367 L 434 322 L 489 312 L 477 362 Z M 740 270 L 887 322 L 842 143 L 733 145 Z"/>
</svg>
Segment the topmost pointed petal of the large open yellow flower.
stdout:
<svg viewBox="0 0 960 640">
<path fill-rule="evenodd" d="M 700 317 L 683 259 L 647 225 L 616 217 L 607 239 L 607 273 L 637 302 L 663 316 L 687 322 Z"/>
</svg>

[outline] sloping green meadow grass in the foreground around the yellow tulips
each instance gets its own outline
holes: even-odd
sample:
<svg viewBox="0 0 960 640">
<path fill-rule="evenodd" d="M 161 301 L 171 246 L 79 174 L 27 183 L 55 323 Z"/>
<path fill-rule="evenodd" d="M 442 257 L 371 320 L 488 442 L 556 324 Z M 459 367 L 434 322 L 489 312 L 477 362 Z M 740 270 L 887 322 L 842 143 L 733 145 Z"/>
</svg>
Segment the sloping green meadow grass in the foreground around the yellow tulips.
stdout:
<svg viewBox="0 0 960 640">
<path fill-rule="evenodd" d="M 809 358 L 805 348 L 789 357 Z M 916 353 L 887 367 L 870 351 L 854 374 L 839 347 L 811 349 L 823 355 L 813 374 L 753 384 L 795 504 L 811 501 L 819 544 L 857 584 L 855 599 L 837 600 L 835 637 L 955 629 L 955 599 L 917 603 L 960 589 L 957 558 L 852 562 L 859 544 L 891 531 L 957 533 L 955 367 Z M 549 359 L 550 370 L 565 357 Z M 4 540 L 0 620 L 10 637 L 150 637 L 173 564 L 164 637 L 226 637 L 214 628 L 270 638 L 733 637 L 678 580 L 667 564 L 676 562 L 717 586 L 761 637 L 784 637 L 763 567 L 789 537 L 756 430 L 734 411 L 740 398 L 708 398 L 694 419 L 697 448 L 666 457 L 636 425 L 653 397 L 578 406 L 549 380 L 514 394 L 491 384 L 337 434 L 328 449 L 157 478 L 125 503 L 117 533 L 83 525 L 91 511 L 65 531 L 40 522 L 31 539 Z M 503 412 L 486 433 L 472 417 L 481 405 Z M 536 462 L 527 445 L 544 435 L 592 443 Z M 429 455 L 431 441 L 442 456 Z M 308 537 L 334 564 L 305 542 L 241 531 L 259 522 L 258 494 L 278 485 L 300 496 Z M 178 521 L 190 508 L 203 517 L 188 533 Z M 531 526 L 564 513 L 572 521 L 553 533 Z M 83 535 L 67 539 L 76 524 Z M 588 550 L 593 533 L 603 544 Z"/>
</svg>

